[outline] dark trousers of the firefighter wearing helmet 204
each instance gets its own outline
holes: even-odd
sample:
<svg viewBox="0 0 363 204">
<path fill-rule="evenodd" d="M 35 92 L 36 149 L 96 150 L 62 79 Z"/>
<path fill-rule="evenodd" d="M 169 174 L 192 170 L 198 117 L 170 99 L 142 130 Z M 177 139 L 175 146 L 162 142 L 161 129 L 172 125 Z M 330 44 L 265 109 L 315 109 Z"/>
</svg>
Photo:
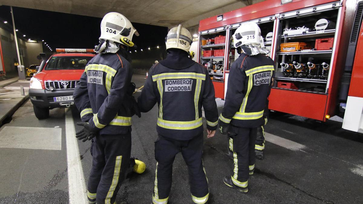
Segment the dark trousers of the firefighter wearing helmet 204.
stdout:
<svg viewBox="0 0 363 204">
<path fill-rule="evenodd" d="M 99 135 L 93 140 L 87 197 L 90 203 L 114 204 L 130 163 L 131 132 Z"/>
</svg>

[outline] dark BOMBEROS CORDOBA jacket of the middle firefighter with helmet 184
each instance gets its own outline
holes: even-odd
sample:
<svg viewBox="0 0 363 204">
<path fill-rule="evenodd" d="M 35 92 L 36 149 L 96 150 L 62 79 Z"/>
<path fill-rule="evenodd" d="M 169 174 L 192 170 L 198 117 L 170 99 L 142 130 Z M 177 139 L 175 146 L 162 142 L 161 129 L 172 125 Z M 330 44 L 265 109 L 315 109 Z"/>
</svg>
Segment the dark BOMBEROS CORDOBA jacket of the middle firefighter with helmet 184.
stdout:
<svg viewBox="0 0 363 204">
<path fill-rule="evenodd" d="M 170 139 L 189 140 L 203 132 L 202 106 L 207 128 L 216 130 L 218 110 L 214 87 L 204 66 L 187 52 L 168 49 L 166 60 L 153 65 L 140 97 L 141 112 L 159 105 L 156 130 Z"/>
</svg>

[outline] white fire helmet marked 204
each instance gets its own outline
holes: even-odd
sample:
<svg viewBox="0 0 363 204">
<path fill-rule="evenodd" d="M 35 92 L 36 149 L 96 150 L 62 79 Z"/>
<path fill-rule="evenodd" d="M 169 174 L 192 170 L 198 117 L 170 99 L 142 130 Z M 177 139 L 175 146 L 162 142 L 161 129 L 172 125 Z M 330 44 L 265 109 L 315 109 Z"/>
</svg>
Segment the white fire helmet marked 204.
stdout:
<svg viewBox="0 0 363 204">
<path fill-rule="evenodd" d="M 101 21 L 101 36 L 99 40 L 109 40 L 129 47 L 134 46 L 133 35 L 139 36 L 131 22 L 121 13 L 107 13 Z"/>
</svg>

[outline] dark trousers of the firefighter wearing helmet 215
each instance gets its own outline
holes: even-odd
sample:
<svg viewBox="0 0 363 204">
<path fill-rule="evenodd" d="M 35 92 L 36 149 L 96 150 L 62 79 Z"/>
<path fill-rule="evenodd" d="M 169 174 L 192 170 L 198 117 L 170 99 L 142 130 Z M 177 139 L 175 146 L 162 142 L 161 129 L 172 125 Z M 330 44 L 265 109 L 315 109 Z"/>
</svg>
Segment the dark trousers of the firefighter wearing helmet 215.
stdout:
<svg viewBox="0 0 363 204">
<path fill-rule="evenodd" d="M 229 150 L 233 153 L 232 181 L 241 188 L 248 187 L 248 177 L 253 174 L 256 162 L 254 146 L 257 128 L 232 126 L 229 132 Z"/>
</svg>

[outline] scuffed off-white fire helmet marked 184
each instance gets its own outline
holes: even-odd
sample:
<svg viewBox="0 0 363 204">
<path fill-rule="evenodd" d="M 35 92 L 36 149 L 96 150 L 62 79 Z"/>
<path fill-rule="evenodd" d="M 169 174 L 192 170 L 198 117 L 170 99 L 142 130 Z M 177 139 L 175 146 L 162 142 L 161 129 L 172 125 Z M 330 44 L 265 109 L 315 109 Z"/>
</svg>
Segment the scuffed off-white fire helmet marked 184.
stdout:
<svg viewBox="0 0 363 204">
<path fill-rule="evenodd" d="M 165 38 L 166 49 L 178 48 L 186 52 L 189 52 L 192 42 L 192 35 L 182 25 L 170 29 Z"/>
</svg>

